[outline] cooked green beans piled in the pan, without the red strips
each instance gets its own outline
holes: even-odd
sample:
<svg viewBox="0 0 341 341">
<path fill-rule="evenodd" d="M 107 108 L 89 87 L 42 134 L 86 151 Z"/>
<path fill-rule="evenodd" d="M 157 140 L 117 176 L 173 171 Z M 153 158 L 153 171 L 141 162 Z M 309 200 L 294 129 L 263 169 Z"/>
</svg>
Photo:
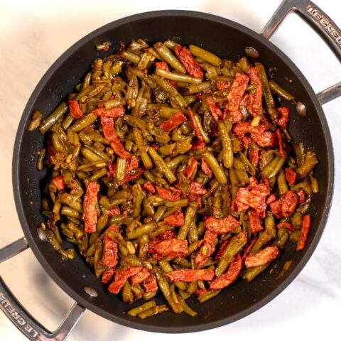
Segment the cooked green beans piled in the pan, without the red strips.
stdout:
<svg viewBox="0 0 341 341">
<path fill-rule="evenodd" d="M 286 127 L 279 127 L 276 121 L 278 96 L 283 105 L 286 101 L 294 103 L 293 95 L 268 79 L 264 65 L 255 63 L 262 86 L 261 112 L 252 117 L 249 109 L 243 104 L 239 106 L 243 114 L 241 120 L 251 122 L 253 127 L 259 126 L 262 115 L 268 117 L 269 131 L 279 131 L 286 146 L 284 158 L 278 146 L 262 147 L 253 138 L 244 140 L 235 134 L 236 122 L 229 119 L 228 113 L 218 121 L 212 119 L 207 97 L 212 97 L 217 108 L 224 112 L 236 75 L 245 75 L 253 67 L 249 60 L 244 57 L 234 63 L 189 45 L 204 75 L 193 77 L 175 55 L 177 46 L 173 40 L 150 45 L 142 39 L 121 45 L 117 53 L 108 52 L 105 58 L 94 60 L 82 82 L 75 85 L 65 102 L 47 117 L 40 114 L 44 108 L 37 108 L 41 110 L 33 113 L 28 126 L 29 131 L 38 129 L 47 136 L 45 148 L 37 153 L 37 169 L 48 168 L 41 203 L 45 217 L 41 227 L 48 242 L 62 259 L 74 259 L 77 254 L 85 257 L 98 278 L 110 270 L 102 262 L 107 238 L 118 246 L 111 281 L 114 281 L 115 271 L 117 275 L 117 271 L 131 267 L 148 269 L 156 278 L 157 291 L 144 291 L 141 283 L 133 284 L 129 280 L 121 289 L 126 303 L 146 300 L 129 310 L 129 315 L 139 318 L 163 313 L 169 308 L 175 313 L 195 316 L 197 313 L 185 300 L 196 294 L 202 303 L 220 293 L 221 290 L 210 289 L 210 281 L 172 283 L 166 276 L 176 270 L 198 269 L 195 256 L 199 252 L 203 256 L 207 254 L 205 242 L 202 244 L 207 237 L 206 217 L 223 220 L 231 215 L 239 222 L 231 231 L 217 234 L 213 242 L 215 251 L 200 267 L 212 269 L 219 277 L 238 254 L 252 255 L 270 245 L 283 249 L 287 243 L 297 243 L 303 215 L 308 212 L 314 193 L 318 193 L 318 180 L 313 174 L 318 163 L 315 153 L 306 150 L 301 142 L 293 141 Z M 97 50 L 106 51 L 109 47 L 110 43 L 106 42 Z M 165 63 L 166 69 L 158 67 L 158 62 Z M 224 86 L 218 87 L 218 82 Z M 247 85 L 245 94 L 253 96 L 254 92 L 255 85 Z M 79 105 L 78 119 L 70 110 L 70 100 Z M 124 115 L 114 118 L 114 129 L 124 151 L 136 158 L 138 166 L 133 169 L 132 159 L 118 156 L 112 148 L 112 141 L 105 136 L 100 114 L 97 114 L 99 109 L 110 111 L 119 106 L 124 108 Z M 178 112 L 184 115 L 184 121 L 173 129 L 164 130 L 163 122 Z M 193 112 L 193 121 L 189 112 Z M 198 142 L 201 145 L 195 148 Z M 251 148 L 259 155 L 257 163 L 250 158 Z M 195 166 L 188 173 L 192 163 Z M 134 176 L 138 171 L 139 176 Z M 290 171 L 297 177 L 292 183 L 288 183 L 286 176 Z M 127 174 L 131 178 L 126 178 Z M 267 181 L 270 193 L 276 198 L 288 191 L 303 193 L 305 197 L 288 217 L 275 217 L 267 205 L 260 219 L 263 228 L 251 232 L 251 208 L 244 212 L 233 208 L 239 189 L 247 188 L 251 177 L 259 183 Z M 199 183 L 205 193 L 191 196 L 193 181 Z M 100 185 L 94 207 L 96 229 L 92 233 L 85 232 L 84 217 L 89 183 Z M 147 190 L 146 183 L 154 191 Z M 167 199 L 155 193 L 155 188 L 171 188 L 180 195 Z M 165 223 L 168 217 L 179 212 L 184 218 L 181 226 Z M 155 256 L 150 243 L 170 232 L 176 239 L 188 243 L 188 253 L 176 257 Z M 241 233 L 242 241 L 238 239 Z M 224 242 L 229 244 L 218 259 L 217 251 Z M 243 268 L 240 277 L 251 281 L 270 264 L 271 261 Z M 164 305 L 156 305 L 152 300 L 159 293 L 165 298 Z"/>
</svg>

